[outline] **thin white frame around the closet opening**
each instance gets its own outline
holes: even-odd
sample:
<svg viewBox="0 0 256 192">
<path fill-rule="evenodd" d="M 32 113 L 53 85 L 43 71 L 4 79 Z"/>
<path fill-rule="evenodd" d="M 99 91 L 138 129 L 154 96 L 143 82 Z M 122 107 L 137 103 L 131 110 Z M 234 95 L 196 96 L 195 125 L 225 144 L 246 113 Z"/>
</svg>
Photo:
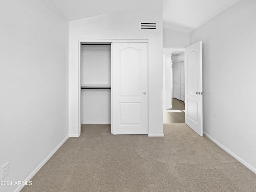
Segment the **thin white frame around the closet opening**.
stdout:
<svg viewBox="0 0 256 192">
<path fill-rule="evenodd" d="M 138 43 L 147 43 L 148 44 L 148 39 L 78 39 L 78 46 L 79 46 L 79 53 L 78 53 L 78 133 L 79 136 L 81 134 L 81 118 L 80 118 L 80 99 L 81 99 L 81 83 L 80 83 L 80 62 L 81 62 L 81 45 L 82 44 L 111 44 L 111 84 L 110 86 L 112 87 L 112 43 L 113 42 L 138 42 Z M 147 72 L 148 73 L 148 72 Z M 148 79 L 147 79 L 148 83 Z M 148 96 L 149 94 L 147 94 Z M 147 103 L 148 105 L 148 103 Z M 111 90 L 111 103 L 110 103 L 110 123 L 111 123 L 111 134 L 112 134 L 112 90 Z M 148 116 L 148 111 L 147 111 L 147 116 Z"/>
</svg>

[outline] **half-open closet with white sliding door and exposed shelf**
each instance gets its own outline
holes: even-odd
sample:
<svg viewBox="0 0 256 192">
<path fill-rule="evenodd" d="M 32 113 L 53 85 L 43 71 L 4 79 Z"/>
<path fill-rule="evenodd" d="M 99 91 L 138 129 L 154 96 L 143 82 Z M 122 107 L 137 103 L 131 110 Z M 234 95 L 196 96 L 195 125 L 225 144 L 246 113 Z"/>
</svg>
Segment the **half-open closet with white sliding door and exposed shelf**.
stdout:
<svg viewBox="0 0 256 192">
<path fill-rule="evenodd" d="M 80 44 L 80 122 L 148 134 L 148 41 Z"/>
</svg>

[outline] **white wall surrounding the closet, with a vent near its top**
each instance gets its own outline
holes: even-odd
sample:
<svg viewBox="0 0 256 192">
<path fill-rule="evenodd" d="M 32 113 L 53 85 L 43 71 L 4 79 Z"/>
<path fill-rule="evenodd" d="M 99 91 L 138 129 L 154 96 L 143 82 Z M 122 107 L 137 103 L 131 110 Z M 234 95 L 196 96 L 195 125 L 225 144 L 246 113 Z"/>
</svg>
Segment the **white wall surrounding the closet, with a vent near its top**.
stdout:
<svg viewBox="0 0 256 192">
<path fill-rule="evenodd" d="M 139 22 L 158 22 L 158 31 L 140 31 Z M 149 40 L 149 133 L 163 134 L 162 13 L 128 10 L 70 22 L 70 134 L 78 135 L 78 39 Z"/>
</svg>

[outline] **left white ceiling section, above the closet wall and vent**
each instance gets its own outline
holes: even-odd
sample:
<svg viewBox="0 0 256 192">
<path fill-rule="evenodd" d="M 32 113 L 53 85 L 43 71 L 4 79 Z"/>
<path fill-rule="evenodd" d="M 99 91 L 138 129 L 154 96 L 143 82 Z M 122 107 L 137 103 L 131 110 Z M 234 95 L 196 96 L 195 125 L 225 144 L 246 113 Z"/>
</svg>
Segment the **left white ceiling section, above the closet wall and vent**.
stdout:
<svg viewBox="0 0 256 192">
<path fill-rule="evenodd" d="M 143 8 L 162 13 L 162 0 L 48 0 L 68 20 Z"/>
</svg>

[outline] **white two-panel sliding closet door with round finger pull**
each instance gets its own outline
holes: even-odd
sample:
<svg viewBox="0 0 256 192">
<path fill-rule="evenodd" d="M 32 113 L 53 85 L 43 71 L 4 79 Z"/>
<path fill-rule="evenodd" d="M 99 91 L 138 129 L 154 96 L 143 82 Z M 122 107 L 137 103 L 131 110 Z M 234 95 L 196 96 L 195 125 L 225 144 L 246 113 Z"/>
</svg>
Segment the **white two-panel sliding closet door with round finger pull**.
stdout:
<svg viewBox="0 0 256 192">
<path fill-rule="evenodd" d="M 148 134 L 148 45 L 112 44 L 112 134 Z"/>
</svg>

